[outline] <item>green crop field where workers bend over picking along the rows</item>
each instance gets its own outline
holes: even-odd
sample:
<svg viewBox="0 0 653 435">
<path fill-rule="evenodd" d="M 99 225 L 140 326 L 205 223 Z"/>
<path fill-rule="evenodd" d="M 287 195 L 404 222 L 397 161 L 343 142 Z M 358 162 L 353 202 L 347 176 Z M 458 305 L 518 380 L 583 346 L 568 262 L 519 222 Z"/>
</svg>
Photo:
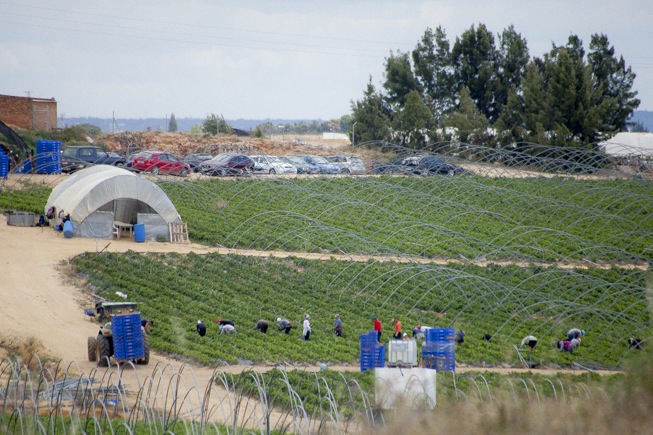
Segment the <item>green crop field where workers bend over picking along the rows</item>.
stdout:
<svg viewBox="0 0 653 435">
<path fill-rule="evenodd" d="M 134 252 L 87 253 L 73 264 L 104 297 L 122 292 L 142 304 L 144 316 L 157 320 L 155 349 L 209 365 L 356 364 L 359 334 L 371 329 L 372 315 L 384 323 L 385 340 L 395 316 L 409 333 L 417 324 L 463 329 L 467 340 L 457 358 L 468 363 L 517 362 L 514 346 L 533 334 L 541 345 L 529 357 L 613 367 L 628 353 L 629 336 L 651 330 L 648 272 L 640 270 Z M 300 340 L 305 313 L 311 315 L 310 341 Z M 342 338 L 332 333 L 336 313 L 345 325 Z M 239 332 L 219 335 L 213 323 L 218 317 L 234 320 Z M 295 323 L 290 335 L 277 331 L 277 317 Z M 206 337 L 195 332 L 198 319 L 209 326 Z M 254 330 L 259 319 L 270 322 L 268 334 Z M 560 353 L 554 343 L 571 327 L 587 331 L 583 345 L 573 355 Z M 481 340 L 486 333 L 491 342 Z"/>
</svg>

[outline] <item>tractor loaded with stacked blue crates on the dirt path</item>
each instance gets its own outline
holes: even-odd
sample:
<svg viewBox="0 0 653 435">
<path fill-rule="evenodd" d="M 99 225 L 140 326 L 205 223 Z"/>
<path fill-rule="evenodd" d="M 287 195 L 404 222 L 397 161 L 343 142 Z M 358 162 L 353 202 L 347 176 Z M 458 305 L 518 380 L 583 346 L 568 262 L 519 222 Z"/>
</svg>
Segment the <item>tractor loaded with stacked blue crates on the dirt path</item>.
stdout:
<svg viewBox="0 0 653 435">
<path fill-rule="evenodd" d="M 149 337 L 141 327 L 141 314 L 135 302 L 97 302 L 95 311 L 101 327 L 97 336 L 88 337 L 88 360 L 108 367 L 116 361 L 150 362 Z"/>
</svg>

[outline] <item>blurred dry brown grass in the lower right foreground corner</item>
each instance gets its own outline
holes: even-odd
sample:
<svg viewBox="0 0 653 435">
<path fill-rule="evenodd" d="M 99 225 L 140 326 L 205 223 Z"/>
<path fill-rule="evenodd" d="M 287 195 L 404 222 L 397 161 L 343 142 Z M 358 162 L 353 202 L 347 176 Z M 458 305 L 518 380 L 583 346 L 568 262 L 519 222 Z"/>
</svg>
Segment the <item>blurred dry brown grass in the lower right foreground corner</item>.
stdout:
<svg viewBox="0 0 653 435">
<path fill-rule="evenodd" d="M 491 403 L 456 402 L 433 412 L 398 412 L 381 434 L 651 434 L 653 363 L 643 353 L 613 393 L 588 389 L 586 399 L 515 402 L 509 397 Z M 386 423 L 388 420 L 386 420 Z"/>
</svg>

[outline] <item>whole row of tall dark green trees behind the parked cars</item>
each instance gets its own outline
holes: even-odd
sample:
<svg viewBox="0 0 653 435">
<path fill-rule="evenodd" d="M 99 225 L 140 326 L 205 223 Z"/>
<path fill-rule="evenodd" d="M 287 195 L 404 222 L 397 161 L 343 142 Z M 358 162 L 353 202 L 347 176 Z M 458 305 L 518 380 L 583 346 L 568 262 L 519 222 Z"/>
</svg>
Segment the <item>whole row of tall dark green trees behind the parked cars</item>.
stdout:
<svg viewBox="0 0 653 435">
<path fill-rule="evenodd" d="M 472 26 L 453 45 L 441 27 L 427 29 L 411 53 L 390 53 L 384 75 L 382 89 L 370 77 L 352 102 L 357 143 L 578 146 L 625 130 L 640 103 L 635 73 L 603 34 L 587 53 L 572 35 L 538 58 L 513 26 L 496 38 Z"/>
</svg>

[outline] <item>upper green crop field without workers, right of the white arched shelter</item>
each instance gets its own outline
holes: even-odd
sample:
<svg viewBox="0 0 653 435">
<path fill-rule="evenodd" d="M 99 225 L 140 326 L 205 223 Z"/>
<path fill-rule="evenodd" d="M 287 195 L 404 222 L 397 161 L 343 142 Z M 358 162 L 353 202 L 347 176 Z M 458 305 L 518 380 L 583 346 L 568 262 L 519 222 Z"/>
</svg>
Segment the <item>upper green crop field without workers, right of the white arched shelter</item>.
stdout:
<svg viewBox="0 0 653 435">
<path fill-rule="evenodd" d="M 639 180 L 317 178 L 161 183 L 191 239 L 235 248 L 520 261 L 650 261 Z"/>
</svg>

